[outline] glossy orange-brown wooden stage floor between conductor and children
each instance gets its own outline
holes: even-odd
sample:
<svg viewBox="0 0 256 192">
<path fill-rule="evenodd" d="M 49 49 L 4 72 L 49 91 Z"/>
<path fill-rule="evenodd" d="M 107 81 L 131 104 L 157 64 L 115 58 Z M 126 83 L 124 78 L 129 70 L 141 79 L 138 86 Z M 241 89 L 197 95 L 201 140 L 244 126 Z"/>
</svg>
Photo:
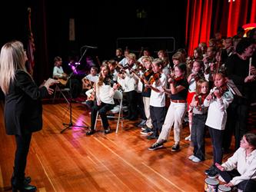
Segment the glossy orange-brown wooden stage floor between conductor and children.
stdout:
<svg viewBox="0 0 256 192">
<path fill-rule="evenodd" d="M 10 190 L 10 177 L 15 153 L 13 136 L 5 134 L 3 104 L 0 105 L 0 190 Z M 206 161 L 198 164 L 188 160 L 193 148 L 184 137 L 181 151 L 171 152 L 173 133 L 165 147 L 148 151 L 154 141 L 141 136 L 134 121 L 124 121 L 118 134 L 105 135 L 98 122 L 98 131 L 86 136 L 88 128 L 71 127 L 65 103 L 43 105 L 42 131 L 32 136 L 26 175 L 39 191 L 203 191 L 204 170 L 212 162 L 211 141 L 206 138 Z M 90 125 L 88 109 L 72 104 L 72 123 Z M 113 129 L 115 121 L 110 121 Z M 231 154 L 225 154 L 224 159 Z"/>
</svg>

